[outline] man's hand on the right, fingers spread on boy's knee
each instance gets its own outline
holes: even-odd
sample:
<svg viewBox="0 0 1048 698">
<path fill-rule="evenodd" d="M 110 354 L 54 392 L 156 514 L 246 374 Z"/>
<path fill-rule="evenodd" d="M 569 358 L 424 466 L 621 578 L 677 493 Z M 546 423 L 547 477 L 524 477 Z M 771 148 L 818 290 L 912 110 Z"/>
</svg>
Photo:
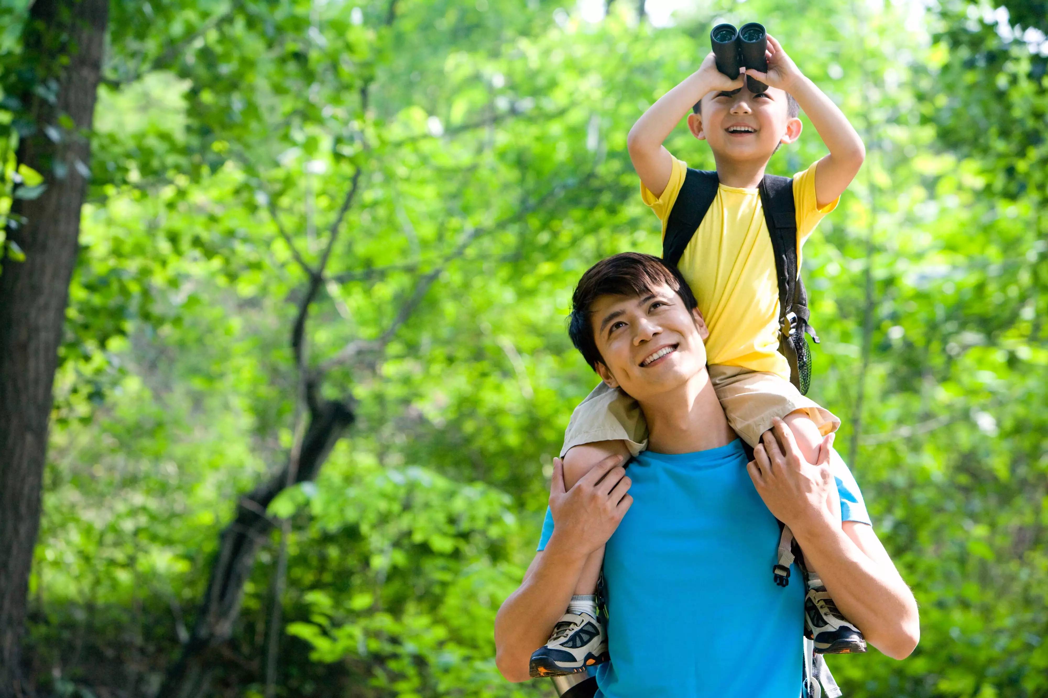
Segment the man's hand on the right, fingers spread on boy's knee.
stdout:
<svg viewBox="0 0 1048 698">
<path fill-rule="evenodd" d="M 836 481 L 830 471 L 833 434 L 820 445 L 818 458 L 809 463 L 782 419 L 764 433 L 746 470 L 768 510 L 794 531 L 815 527 L 840 528 Z"/>
</svg>

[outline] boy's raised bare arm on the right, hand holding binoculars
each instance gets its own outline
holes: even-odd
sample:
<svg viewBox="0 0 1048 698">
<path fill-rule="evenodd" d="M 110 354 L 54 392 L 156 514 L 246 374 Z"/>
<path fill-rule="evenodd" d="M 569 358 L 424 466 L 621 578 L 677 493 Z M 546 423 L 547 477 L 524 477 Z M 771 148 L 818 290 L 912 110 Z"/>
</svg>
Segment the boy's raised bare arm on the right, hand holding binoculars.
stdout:
<svg viewBox="0 0 1048 698">
<path fill-rule="evenodd" d="M 815 200 L 823 208 L 848 189 L 863 167 L 866 147 L 844 112 L 801 72 L 771 35 L 768 35 L 767 59 L 766 73 L 751 68 L 746 73 L 792 94 L 830 149 L 830 154 L 818 160 L 815 168 Z"/>
</svg>

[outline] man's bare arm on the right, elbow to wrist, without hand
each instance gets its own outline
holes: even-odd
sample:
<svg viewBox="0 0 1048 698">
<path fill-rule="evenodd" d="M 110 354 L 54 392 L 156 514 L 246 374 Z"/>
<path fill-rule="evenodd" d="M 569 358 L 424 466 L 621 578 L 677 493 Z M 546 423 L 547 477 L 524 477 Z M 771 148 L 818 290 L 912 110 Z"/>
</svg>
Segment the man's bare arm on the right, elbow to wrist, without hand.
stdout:
<svg viewBox="0 0 1048 698">
<path fill-rule="evenodd" d="M 875 539 L 866 524 L 845 525 L 854 527 L 853 535 Z M 907 657 L 920 633 L 917 603 L 887 553 L 868 554 L 835 525 L 793 532 L 840 612 L 875 648 L 896 659 Z"/>
</svg>

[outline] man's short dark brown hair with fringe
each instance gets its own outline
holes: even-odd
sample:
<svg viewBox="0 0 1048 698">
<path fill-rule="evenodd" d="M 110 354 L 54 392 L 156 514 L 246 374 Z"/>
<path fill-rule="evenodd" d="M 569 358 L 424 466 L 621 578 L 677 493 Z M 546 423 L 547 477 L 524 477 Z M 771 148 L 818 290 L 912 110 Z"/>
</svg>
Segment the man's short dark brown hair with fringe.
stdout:
<svg viewBox="0 0 1048 698">
<path fill-rule="evenodd" d="M 583 275 L 571 297 L 568 335 L 594 371 L 604 363 L 593 336 L 592 306 L 602 296 L 640 296 L 665 284 L 680 297 L 689 311 L 698 307 L 692 288 L 676 266 L 658 257 L 639 253 L 623 253 L 603 259 Z"/>
</svg>

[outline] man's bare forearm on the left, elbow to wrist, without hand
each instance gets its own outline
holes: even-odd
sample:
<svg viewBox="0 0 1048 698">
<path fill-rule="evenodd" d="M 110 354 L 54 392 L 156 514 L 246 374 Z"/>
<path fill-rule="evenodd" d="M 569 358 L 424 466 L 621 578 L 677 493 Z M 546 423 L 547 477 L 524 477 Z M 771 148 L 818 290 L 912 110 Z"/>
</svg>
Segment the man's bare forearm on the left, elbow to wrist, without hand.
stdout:
<svg viewBox="0 0 1048 698">
<path fill-rule="evenodd" d="M 554 529 L 524 582 L 495 617 L 495 662 L 509 681 L 526 681 L 531 653 L 542 647 L 571 601 L 587 554 Z"/>
</svg>

